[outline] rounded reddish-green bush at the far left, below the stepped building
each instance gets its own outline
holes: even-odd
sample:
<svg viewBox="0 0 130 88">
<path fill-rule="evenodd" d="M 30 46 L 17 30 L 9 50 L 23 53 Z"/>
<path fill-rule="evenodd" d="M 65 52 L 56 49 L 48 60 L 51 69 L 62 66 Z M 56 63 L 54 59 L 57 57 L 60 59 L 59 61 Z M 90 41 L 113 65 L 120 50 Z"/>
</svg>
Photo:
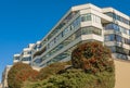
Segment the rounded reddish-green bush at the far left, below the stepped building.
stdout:
<svg viewBox="0 0 130 88">
<path fill-rule="evenodd" d="M 30 65 L 24 63 L 14 64 L 8 74 L 9 88 L 21 88 L 23 81 L 35 80 L 38 72 L 32 70 Z"/>
</svg>

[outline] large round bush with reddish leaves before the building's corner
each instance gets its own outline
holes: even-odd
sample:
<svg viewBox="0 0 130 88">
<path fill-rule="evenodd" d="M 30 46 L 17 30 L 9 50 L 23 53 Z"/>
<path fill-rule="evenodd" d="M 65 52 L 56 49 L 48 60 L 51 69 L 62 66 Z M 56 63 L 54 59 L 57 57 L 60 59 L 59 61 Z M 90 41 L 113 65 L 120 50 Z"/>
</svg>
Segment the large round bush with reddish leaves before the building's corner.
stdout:
<svg viewBox="0 0 130 88">
<path fill-rule="evenodd" d="M 87 73 L 114 72 L 109 49 L 96 41 L 79 45 L 72 53 L 72 63 L 75 68 L 83 68 Z"/>
</svg>

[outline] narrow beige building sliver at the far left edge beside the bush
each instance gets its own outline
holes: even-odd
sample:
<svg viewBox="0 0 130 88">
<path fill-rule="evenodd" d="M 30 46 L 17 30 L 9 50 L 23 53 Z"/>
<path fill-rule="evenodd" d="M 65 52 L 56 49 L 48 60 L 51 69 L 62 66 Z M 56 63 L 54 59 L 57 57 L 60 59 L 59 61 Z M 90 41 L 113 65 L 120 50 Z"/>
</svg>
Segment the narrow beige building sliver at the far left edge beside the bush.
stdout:
<svg viewBox="0 0 130 88">
<path fill-rule="evenodd" d="M 11 67 L 12 67 L 12 65 L 6 65 L 6 67 L 4 68 L 4 71 L 2 73 L 1 88 L 9 88 L 9 86 L 8 86 L 8 73 L 9 73 Z"/>
</svg>

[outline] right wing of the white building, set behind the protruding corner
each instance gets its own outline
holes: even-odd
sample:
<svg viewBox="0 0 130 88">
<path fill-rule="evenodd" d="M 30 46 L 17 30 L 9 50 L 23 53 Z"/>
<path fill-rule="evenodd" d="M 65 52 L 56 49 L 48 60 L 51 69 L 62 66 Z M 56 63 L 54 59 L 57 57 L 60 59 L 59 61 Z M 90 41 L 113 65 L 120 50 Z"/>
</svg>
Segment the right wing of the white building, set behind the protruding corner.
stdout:
<svg viewBox="0 0 130 88">
<path fill-rule="evenodd" d="M 114 58 L 130 60 L 130 16 L 113 8 L 102 10 L 113 18 L 112 23 L 103 24 L 104 43 L 112 50 Z"/>
</svg>

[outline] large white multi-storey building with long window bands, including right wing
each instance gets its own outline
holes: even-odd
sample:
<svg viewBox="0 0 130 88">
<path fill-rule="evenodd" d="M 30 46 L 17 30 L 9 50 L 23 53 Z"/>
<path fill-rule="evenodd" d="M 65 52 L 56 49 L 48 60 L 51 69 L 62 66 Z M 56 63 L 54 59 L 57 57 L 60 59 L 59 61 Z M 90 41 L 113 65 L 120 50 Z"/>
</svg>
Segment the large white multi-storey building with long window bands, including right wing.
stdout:
<svg viewBox="0 0 130 88">
<path fill-rule="evenodd" d="M 77 45 L 93 40 L 107 46 L 113 58 L 130 60 L 130 17 L 91 3 L 73 7 L 40 41 L 31 65 L 68 61 Z"/>
</svg>

